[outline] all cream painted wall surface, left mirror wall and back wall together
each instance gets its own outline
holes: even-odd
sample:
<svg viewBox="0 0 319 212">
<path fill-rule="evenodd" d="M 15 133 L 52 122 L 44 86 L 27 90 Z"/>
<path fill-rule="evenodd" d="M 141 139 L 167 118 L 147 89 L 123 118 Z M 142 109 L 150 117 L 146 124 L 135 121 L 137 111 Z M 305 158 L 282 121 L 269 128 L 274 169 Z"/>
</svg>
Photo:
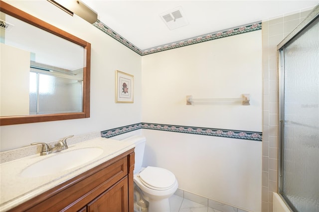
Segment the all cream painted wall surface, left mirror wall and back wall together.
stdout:
<svg viewBox="0 0 319 212">
<path fill-rule="evenodd" d="M 1 126 L 1 151 L 141 121 L 261 131 L 261 31 L 141 59 L 88 22 L 69 16 L 47 1 L 7 2 L 92 44 L 91 117 Z M 115 104 L 116 69 L 134 75 L 134 104 Z M 225 98 L 240 97 L 242 93 L 251 94 L 250 106 L 185 105 L 186 95 Z M 171 170 L 180 189 L 237 208 L 260 211 L 261 142 L 142 132 L 148 138 L 145 164 Z"/>
</svg>

